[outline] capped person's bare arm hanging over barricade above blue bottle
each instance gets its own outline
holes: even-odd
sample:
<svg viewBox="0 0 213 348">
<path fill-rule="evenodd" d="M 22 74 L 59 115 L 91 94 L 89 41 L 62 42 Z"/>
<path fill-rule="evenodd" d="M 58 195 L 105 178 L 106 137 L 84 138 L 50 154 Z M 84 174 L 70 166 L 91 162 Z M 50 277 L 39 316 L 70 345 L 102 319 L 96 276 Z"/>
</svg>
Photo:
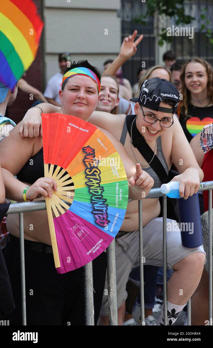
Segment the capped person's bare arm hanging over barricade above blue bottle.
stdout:
<svg viewBox="0 0 213 348">
<path fill-rule="evenodd" d="M 173 124 L 171 158 L 180 173 L 171 181 L 179 181 L 179 195 L 187 199 L 198 191 L 204 174 L 176 117 Z"/>
</svg>

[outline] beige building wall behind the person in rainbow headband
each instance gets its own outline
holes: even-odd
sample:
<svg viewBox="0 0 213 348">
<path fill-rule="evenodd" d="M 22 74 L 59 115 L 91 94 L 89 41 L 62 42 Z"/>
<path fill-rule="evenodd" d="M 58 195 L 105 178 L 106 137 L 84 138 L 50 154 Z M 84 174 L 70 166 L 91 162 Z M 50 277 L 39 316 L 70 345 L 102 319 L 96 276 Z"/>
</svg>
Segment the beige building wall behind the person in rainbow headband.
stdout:
<svg viewBox="0 0 213 348">
<path fill-rule="evenodd" d="M 103 71 L 121 45 L 120 0 L 44 0 L 45 84 L 58 68 L 58 54 L 87 59 Z"/>
</svg>

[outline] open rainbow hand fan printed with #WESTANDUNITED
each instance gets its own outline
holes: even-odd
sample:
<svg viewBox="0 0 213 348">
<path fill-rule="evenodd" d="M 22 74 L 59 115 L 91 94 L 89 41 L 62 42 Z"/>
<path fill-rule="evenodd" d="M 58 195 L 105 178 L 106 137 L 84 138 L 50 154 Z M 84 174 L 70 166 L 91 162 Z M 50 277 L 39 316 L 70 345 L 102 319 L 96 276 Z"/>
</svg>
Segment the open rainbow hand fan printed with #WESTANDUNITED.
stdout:
<svg viewBox="0 0 213 348">
<path fill-rule="evenodd" d="M 96 126 L 51 113 L 42 114 L 42 129 L 44 175 L 57 183 L 45 198 L 53 255 L 57 272 L 65 273 L 94 260 L 115 238 L 128 182 L 118 152 Z"/>
</svg>

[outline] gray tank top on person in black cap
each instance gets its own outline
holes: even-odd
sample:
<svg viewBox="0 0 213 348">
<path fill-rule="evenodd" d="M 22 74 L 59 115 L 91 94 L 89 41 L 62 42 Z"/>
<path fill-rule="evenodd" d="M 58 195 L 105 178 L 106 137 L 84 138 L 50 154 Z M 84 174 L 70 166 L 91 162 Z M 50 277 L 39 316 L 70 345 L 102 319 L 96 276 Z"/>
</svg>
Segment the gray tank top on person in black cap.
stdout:
<svg viewBox="0 0 213 348">
<path fill-rule="evenodd" d="M 127 124 L 126 124 L 126 120 L 125 120 L 124 125 L 123 125 L 123 130 L 121 133 L 121 137 L 120 137 L 120 142 L 123 146 L 124 146 L 124 143 L 126 140 L 127 132 L 128 132 L 128 129 L 127 129 Z M 162 163 L 162 165 L 163 165 L 163 167 L 168 175 L 169 168 L 168 168 L 167 162 L 165 160 L 165 157 L 163 155 L 163 150 L 162 150 L 162 145 L 161 145 L 161 136 L 159 136 L 157 138 L 157 157 L 161 161 L 161 163 Z M 162 185 L 161 180 L 159 179 L 159 177 L 157 176 L 157 174 L 155 173 L 154 169 L 152 169 L 151 166 L 146 167 L 146 168 L 142 167 L 142 169 L 143 169 L 143 171 L 150 174 L 150 176 L 154 179 L 154 185 L 152 188 L 160 187 Z"/>
</svg>

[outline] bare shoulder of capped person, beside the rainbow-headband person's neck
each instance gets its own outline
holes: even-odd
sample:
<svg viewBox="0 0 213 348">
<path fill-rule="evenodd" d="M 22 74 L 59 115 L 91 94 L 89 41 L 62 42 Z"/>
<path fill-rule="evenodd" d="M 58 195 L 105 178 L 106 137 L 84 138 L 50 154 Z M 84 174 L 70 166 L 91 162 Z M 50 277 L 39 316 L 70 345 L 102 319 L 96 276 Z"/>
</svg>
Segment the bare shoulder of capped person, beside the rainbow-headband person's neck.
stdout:
<svg viewBox="0 0 213 348">
<path fill-rule="evenodd" d="M 88 121 L 97 127 L 107 130 L 117 139 L 120 139 L 119 134 L 122 132 L 125 119 L 125 114 L 113 115 L 112 113 L 108 112 L 94 111 Z"/>
</svg>

